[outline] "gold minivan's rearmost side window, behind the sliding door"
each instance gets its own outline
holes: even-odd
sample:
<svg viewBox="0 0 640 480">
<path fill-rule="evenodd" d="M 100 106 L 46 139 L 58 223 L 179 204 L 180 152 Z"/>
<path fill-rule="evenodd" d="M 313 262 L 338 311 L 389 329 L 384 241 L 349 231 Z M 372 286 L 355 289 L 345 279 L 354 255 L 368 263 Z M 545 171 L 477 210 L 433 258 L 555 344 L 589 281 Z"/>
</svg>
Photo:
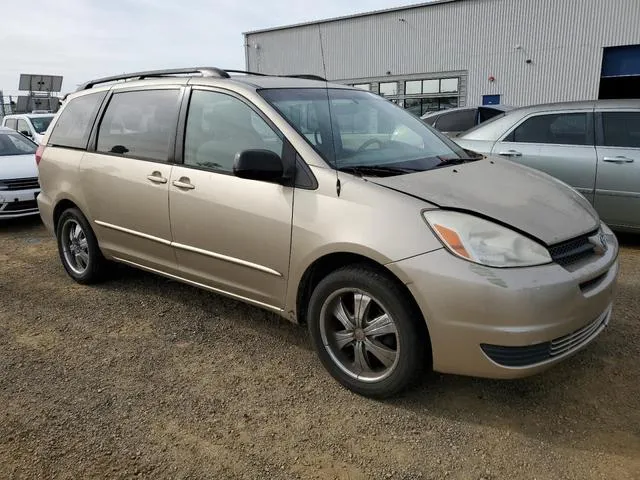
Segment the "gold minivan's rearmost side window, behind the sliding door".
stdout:
<svg viewBox="0 0 640 480">
<path fill-rule="evenodd" d="M 53 127 L 49 144 L 58 147 L 87 148 L 93 120 L 107 92 L 71 99 Z"/>
</svg>

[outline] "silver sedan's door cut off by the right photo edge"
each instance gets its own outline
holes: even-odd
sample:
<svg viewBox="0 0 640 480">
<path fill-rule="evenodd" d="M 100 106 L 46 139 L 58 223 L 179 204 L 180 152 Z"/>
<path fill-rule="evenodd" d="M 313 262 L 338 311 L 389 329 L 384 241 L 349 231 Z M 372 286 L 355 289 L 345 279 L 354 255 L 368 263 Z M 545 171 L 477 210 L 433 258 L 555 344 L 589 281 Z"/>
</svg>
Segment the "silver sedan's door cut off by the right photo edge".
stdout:
<svg viewBox="0 0 640 480">
<path fill-rule="evenodd" d="M 596 209 L 606 223 L 640 228 L 640 110 L 598 117 Z"/>
</svg>

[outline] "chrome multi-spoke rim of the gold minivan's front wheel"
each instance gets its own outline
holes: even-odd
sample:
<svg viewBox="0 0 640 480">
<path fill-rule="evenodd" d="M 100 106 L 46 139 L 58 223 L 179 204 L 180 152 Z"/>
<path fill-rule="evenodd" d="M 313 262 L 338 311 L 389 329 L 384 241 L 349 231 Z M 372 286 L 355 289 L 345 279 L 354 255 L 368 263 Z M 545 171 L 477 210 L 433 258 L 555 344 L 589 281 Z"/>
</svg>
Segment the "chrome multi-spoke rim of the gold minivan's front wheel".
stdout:
<svg viewBox="0 0 640 480">
<path fill-rule="evenodd" d="M 362 290 L 340 289 L 325 300 L 320 335 L 331 359 L 356 380 L 383 380 L 400 358 L 393 317 L 382 302 Z"/>
</svg>

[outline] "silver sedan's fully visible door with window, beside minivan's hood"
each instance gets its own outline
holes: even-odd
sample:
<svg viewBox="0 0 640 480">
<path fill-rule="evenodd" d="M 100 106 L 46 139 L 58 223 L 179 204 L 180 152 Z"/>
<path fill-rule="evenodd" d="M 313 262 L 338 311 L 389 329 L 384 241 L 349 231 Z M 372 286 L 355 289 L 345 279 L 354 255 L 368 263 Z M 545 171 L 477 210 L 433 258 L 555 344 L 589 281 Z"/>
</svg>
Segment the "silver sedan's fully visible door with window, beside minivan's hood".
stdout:
<svg viewBox="0 0 640 480">
<path fill-rule="evenodd" d="M 594 201 L 596 149 L 590 111 L 530 116 L 497 142 L 492 153 L 548 173 Z"/>
</svg>

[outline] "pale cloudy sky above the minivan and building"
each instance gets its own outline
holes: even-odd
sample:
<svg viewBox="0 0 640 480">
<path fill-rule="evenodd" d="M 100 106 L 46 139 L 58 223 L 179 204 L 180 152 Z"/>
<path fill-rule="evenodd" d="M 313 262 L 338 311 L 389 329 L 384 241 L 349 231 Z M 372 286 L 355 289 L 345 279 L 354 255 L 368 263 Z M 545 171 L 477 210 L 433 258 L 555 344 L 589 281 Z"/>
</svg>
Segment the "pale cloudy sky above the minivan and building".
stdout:
<svg viewBox="0 0 640 480">
<path fill-rule="evenodd" d="M 4 3 L 4 2 L 3 2 Z M 411 3 L 411 0 L 41 0 L 2 6 L 0 90 L 20 73 L 64 76 L 63 93 L 92 78 L 148 69 L 242 69 L 242 33 Z"/>
</svg>

